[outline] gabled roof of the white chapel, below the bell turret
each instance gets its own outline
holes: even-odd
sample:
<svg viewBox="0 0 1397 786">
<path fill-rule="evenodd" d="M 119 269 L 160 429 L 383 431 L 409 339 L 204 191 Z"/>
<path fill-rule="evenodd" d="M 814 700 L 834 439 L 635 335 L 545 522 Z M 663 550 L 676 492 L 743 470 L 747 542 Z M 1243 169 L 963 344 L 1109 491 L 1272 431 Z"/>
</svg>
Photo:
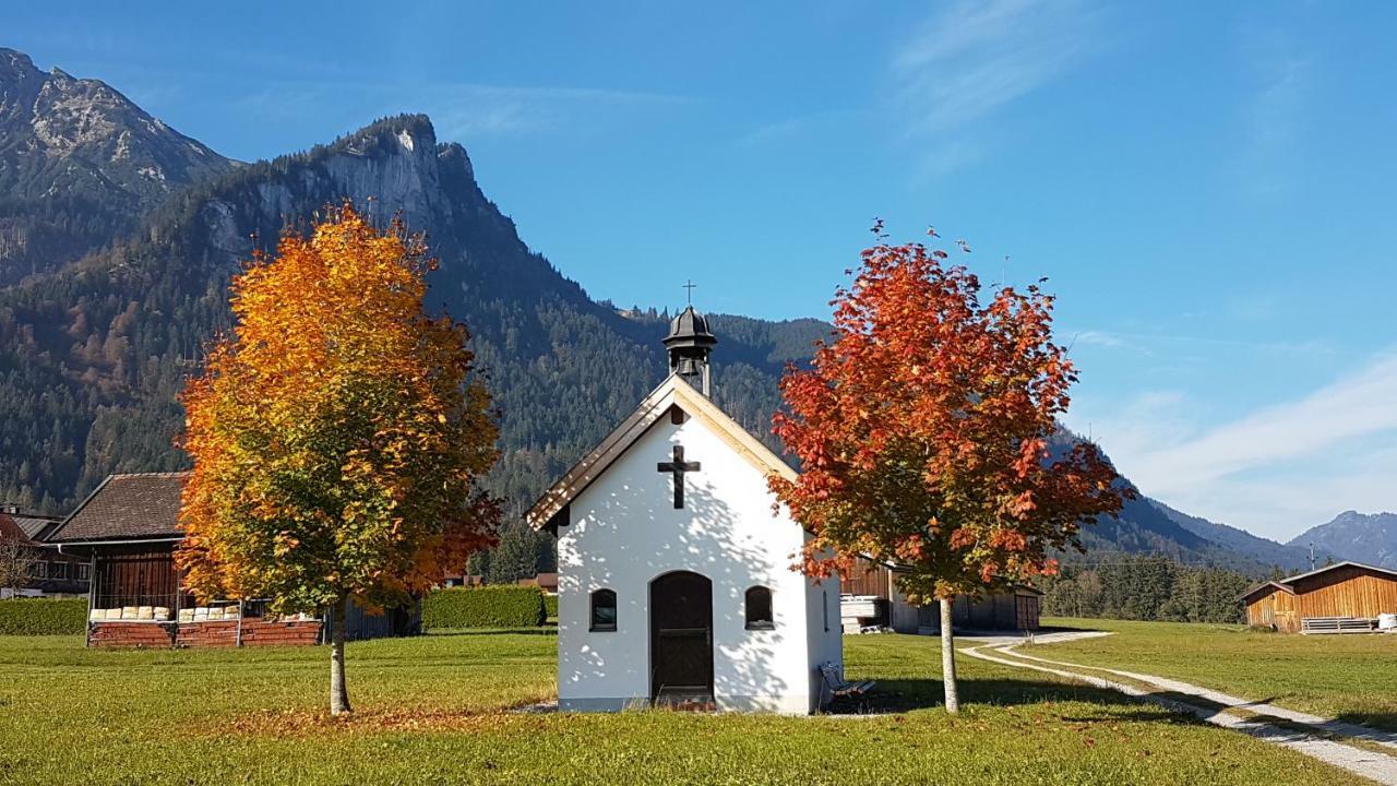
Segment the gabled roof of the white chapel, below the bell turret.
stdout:
<svg viewBox="0 0 1397 786">
<path fill-rule="evenodd" d="M 738 421 L 728 417 L 728 413 L 718 408 L 682 376 L 671 373 L 659 383 L 659 387 L 645 396 L 630 417 L 612 429 L 597 448 L 588 450 L 580 462 L 573 464 L 573 469 L 567 470 L 534 502 L 534 506 L 524 515 L 529 526 L 535 530 L 556 529 L 553 517 L 564 510 L 594 480 L 601 477 L 671 407 L 679 407 L 686 415 L 703 421 L 757 470 L 768 476 L 778 474 L 791 481 L 799 477 L 770 448 L 747 434 L 747 429 L 742 428 Z"/>
</svg>

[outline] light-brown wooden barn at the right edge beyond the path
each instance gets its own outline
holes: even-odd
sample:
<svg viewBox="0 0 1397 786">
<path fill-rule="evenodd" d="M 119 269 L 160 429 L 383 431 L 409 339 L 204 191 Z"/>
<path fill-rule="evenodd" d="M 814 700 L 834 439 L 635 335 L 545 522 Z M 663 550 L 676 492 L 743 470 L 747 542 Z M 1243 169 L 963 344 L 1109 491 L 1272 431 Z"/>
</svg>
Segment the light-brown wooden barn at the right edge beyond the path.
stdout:
<svg viewBox="0 0 1397 786">
<path fill-rule="evenodd" d="M 1397 614 L 1397 571 L 1340 562 L 1257 585 L 1238 600 L 1248 625 L 1285 634 L 1343 634 L 1377 629 L 1383 614 Z"/>
</svg>

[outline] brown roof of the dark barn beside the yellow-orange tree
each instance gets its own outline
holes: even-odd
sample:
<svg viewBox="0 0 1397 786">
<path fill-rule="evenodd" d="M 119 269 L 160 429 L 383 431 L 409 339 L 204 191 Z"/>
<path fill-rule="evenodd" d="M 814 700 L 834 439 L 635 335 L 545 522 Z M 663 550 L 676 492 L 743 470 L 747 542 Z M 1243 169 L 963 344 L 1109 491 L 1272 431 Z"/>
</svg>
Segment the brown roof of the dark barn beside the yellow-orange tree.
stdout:
<svg viewBox="0 0 1397 786">
<path fill-rule="evenodd" d="M 49 536 L 49 543 L 180 537 L 179 499 L 189 473 L 109 476 Z"/>
</svg>

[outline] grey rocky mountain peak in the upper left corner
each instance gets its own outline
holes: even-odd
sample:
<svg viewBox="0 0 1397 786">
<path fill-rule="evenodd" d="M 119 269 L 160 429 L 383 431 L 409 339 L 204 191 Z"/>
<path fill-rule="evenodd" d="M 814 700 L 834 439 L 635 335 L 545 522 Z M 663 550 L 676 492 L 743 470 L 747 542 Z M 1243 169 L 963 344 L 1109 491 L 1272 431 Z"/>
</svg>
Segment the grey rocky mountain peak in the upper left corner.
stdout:
<svg viewBox="0 0 1397 786">
<path fill-rule="evenodd" d="M 105 83 L 0 49 L 0 283 L 53 270 L 232 166 Z"/>
</svg>

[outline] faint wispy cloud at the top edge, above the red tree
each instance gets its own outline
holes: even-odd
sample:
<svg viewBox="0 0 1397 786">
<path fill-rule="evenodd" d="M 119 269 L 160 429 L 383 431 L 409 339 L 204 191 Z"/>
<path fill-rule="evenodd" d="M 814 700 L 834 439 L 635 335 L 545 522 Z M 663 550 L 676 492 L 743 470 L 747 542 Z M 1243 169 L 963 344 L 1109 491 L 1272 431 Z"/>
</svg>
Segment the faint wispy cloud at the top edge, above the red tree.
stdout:
<svg viewBox="0 0 1397 786">
<path fill-rule="evenodd" d="M 1080 1 L 946 6 L 894 56 L 897 95 L 916 131 L 953 137 L 1066 73 L 1092 49 L 1095 18 Z"/>
</svg>

